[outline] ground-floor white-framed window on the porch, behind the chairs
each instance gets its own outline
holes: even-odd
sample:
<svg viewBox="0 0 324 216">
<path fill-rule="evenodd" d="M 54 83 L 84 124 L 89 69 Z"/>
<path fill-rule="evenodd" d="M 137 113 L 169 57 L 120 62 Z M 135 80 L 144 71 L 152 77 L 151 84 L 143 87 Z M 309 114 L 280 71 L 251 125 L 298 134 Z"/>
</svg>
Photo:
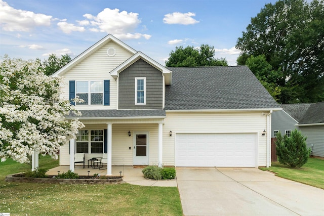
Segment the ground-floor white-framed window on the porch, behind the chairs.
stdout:
<svg viewBox="0 0 324 216">
<path fill-rule="evenodd" d="M 80 130 L 76 135 L 76 153 L 103 153 L 103 130 Z"/>
</svg>

